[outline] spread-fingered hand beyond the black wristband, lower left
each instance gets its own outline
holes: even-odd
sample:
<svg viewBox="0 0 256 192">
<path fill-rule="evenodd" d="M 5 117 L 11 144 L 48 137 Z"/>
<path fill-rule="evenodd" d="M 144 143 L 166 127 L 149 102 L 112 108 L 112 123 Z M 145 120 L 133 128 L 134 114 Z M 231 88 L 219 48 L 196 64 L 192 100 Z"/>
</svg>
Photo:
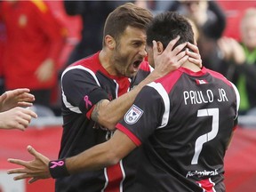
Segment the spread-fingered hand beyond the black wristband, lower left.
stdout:
<svg viewBox="0 0 256 192">
<path fill-rule="evenodd" d="M 51 174 L 48 169 L 48 164 L 50 162 L 49 158 L 38 153 L 35 148 L 28 146 L 28 152 L 35 158 L 32 161 L 23 161 L 20 159 L 9 158 L 8 162 L 12 164 L 18 164 L 22 168 L 8 170 L 8 174 L 18 174 L 13 180 L 28 180 L 28 183 L 33 183 L 36 180 L 51 178 Z"/>
</svg>

